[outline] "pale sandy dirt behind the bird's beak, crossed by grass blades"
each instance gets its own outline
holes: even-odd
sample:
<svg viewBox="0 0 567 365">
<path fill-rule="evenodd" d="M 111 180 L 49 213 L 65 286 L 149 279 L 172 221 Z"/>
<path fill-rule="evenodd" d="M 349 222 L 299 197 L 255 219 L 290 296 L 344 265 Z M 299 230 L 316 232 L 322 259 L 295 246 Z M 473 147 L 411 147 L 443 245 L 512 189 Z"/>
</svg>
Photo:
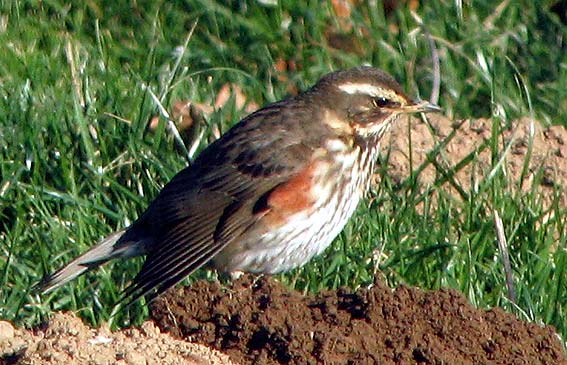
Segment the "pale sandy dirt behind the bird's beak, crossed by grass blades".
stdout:
<svg viewBox="0 0 567 365">
<path fill-rule="evenodd" d="M 544 128 L 529 118 L 510 125 L 490 119 L 455 121 L 442 115 L 430 115 L 427 120 L 406 119 L 384 141 L 383 149 L 389 151 L 388 175 L 395 182 L 403 182 L 412 170 L 425 164 L 418 175 L 422 186 L 436 183 L 463 198 L 462 192 L 470 191 L 490 173 L 501 171 L 511 189 L 535 189 L 542 194 L 544 204 L 554 199 L 556 188 L 561 191 L 566 185 L 567 130 L 562 126 Z M 495 128 L 498 137 L 493 143 Z M 496 144 L 496 151 L 491 150 L 491 144 Z M 439 145 L 444 148 L 433 154 L 434 158 L 428 156 Z M 452 170 L 457 171 L 452 174 Z M 567 203 L 564 191 L 561 203 Z"/>
</svg>

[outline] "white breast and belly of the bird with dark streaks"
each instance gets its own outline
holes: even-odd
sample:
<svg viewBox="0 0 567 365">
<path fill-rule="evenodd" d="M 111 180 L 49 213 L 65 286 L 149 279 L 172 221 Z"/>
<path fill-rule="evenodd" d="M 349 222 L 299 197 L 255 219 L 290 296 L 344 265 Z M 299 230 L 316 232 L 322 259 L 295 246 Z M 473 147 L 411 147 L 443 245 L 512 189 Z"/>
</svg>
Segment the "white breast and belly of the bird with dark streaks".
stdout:
<svg viewBox="0 0 567 365">
<path fill-rule="evenodd" d="M 242 237 L 213 259 L 215 266 L 227 272 L 274 274 L 302 266 L 322 253 L 342 231 L 366 190 L 374 165 L 370 158 L 364 153 L 336 161 L 340 163 L 334 164 L 334 170 L 317 177 L 325 182 L 313 192 L 315 207 L 322 209 L 296 213 L 277 229 Z M 371 166 L 353 168 L 366 163 Z"/>
</svg>

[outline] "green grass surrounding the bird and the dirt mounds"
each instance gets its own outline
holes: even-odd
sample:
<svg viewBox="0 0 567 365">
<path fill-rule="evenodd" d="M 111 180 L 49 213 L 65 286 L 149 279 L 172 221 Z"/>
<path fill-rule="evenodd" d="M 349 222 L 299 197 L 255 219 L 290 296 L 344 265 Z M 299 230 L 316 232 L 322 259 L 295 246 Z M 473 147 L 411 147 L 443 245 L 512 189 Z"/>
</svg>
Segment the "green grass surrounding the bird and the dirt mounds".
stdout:
<svg viewBox="0 0 567 365">
<path fill-rule="evenodd" d="M 136 273 L 139 260 L 47 296 L 28 291 L 131 223 L 187 164 L 164 123 L 148 130 L 158 111 L 148 90 L 166 108 L 180 99 L 212 104 L 221 85 L 233 82 L 262 105 L 362 63 L 386 69 L 412 95 L 426 99 L 431 90 L 431 50 L 407 4 L 386 11 L 361 2 L 344 17 L 318 1 L 65 3 L 0 5 L 0 318 L 20 324 L 62 309 L 97 324 Z M 416 8 L 439 51 L 446 115 L 502 126 L 520 116 L 565 123 L 567 28 L 552 5 L 434 1 Z M 275 66 L 282 61 L 287 68 Z M 244 114 L 231 99 L 207 123 L 224 131 Z M 496 138 L 489 148 L 502 153 Z M 372 282 L 378 266 L 392 285 L 456 288 L 477 306 L 553 324 L 567 338 L 567 221 L 559 200 L 544 209 L 537 191 L 511 194 L 515 182 L 498 173 L 465 201 L 429 187 L 440 200 L 422 212 L 415 207 L 428 202 L 428 192 L 413 178 L 396 184 L 383 173 L 332 248 L 282 280 L 308 291 L 356 287 Z M 516 304 L 506 296 L 493 210 L 509 241 Z M 117 324 L 146 315 L 135 305 Z"/>
</svg>

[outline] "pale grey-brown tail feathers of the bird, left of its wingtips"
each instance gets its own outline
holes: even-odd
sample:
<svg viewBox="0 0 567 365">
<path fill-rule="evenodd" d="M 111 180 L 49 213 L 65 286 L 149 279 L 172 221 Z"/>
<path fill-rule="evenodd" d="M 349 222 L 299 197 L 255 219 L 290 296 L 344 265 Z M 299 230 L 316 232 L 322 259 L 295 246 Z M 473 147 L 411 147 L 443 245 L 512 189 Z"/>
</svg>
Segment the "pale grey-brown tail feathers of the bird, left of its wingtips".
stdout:
<svg viewBox="0 0 567 365">
<path fill-rule="evenodd" d="M 116 244 L 124 232 L 122 230 L 111 234 L 61 269 L 44 276 L 34 286 L 34 290 L 48 293 L 113 258 L 136 256 L 138 242 L 130 241 Z"/>
</svg>

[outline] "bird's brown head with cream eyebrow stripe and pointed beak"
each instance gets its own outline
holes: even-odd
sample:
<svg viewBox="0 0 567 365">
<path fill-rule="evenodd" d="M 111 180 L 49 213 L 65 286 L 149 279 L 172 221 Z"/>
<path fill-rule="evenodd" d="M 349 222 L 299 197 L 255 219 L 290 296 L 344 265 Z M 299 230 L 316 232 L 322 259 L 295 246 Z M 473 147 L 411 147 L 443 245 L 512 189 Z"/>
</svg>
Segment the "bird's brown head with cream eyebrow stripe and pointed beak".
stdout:
<svg viewBox="0 0 567 365">
<path fill-rule="evenodd" d="M 373 67 L 330 73 L 311 94 L 324 105 L 320 110 L 324 123 L 363 139 L 380 137 L 403 114 L 441 111 L 429 102 L 411 99 L 392 76 Z"/>
</svg>

